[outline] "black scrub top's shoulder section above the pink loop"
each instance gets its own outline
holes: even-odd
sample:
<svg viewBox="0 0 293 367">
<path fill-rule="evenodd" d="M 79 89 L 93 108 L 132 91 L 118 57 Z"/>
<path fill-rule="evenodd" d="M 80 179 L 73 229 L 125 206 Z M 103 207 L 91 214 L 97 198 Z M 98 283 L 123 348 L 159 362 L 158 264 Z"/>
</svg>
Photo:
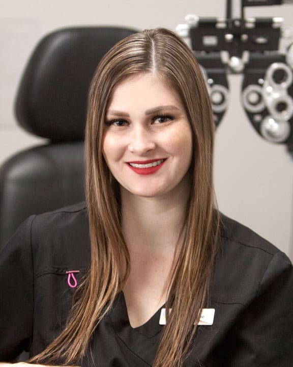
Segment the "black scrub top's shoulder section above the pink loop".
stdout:
<svg viewBox="0 0 293 367">
<path fill-rule="evenodd" d="M 84 202 L 33 216 L 28 224 L 35 271 L 52 266 L 89 266 L 89 222 Z"/>
</svg>

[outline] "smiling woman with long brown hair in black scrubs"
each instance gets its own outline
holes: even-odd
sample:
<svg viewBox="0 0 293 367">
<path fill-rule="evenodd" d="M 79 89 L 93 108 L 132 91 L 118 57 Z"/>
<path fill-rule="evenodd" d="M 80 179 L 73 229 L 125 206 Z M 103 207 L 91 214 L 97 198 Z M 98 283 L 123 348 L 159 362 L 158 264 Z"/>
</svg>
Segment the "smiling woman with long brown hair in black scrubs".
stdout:
<svg viewBox="0 0 293 367">
<path fill-rule="evenodd" d="M 108 52 L 89 95 L 87 205 L 31 217 L 1 256 L 1 360 L 291 365 L 290 261 L 219 216 L 213 137 L 182 40 L 144 31 Z"/>
</svg>

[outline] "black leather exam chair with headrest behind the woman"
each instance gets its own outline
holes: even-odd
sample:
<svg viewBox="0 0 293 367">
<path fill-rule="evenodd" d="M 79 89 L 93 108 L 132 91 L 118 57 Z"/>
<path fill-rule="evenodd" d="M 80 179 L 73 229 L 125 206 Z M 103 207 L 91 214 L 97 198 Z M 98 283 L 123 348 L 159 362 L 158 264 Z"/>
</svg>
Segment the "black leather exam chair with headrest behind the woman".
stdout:
<svg viewBox="0 0 293 367">
<path fill-rule="evenodd" d="M 48 143 L 22 151 L 0 168 L 0 248 L 29 215 L 84 199 L 83 137 L 87 91 L 106 51 L 135 30 L 58 30 L 37 45 L 24 70 L 18 123 Z"/>
</svg>

